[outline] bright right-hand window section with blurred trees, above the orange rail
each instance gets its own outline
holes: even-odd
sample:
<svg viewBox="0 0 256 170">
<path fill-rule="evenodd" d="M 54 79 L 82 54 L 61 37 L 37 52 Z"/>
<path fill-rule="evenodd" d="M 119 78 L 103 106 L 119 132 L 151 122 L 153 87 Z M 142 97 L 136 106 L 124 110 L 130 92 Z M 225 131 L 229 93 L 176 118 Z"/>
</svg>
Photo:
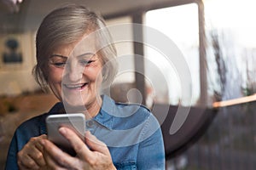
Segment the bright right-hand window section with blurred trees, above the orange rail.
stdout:
<svg viewBox="0 0 256 170">
<path fill-rule="evenodd" d="M 214 101 L 256 93 L 255 7 L 253 0 L 205 2 L 207 43 L 210 44 L 207 63 Z"/>
</svg>

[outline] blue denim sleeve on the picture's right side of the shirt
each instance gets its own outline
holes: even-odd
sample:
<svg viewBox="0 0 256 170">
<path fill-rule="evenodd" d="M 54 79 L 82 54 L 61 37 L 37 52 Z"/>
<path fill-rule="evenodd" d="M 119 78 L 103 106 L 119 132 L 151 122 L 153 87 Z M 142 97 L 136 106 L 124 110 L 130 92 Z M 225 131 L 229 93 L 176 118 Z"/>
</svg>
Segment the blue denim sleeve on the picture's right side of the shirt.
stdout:
<svg viewBox="0 0 256 170">
<path fill-rule="evenodd" d="M 158 128 L 154 130 L 152 126 L 158 126 Z M 160 125 L 155 120 L 154 123 L 149 123 L 146 128 L 147 132 L 143 133 L 145 139 L 138 146 L 137 169 L 165 169 L 165 148 Z M 150 132 L 152 130 L 155 132 Z M 147 136 L 148 138 L 146 138 Z"/>
</svg>

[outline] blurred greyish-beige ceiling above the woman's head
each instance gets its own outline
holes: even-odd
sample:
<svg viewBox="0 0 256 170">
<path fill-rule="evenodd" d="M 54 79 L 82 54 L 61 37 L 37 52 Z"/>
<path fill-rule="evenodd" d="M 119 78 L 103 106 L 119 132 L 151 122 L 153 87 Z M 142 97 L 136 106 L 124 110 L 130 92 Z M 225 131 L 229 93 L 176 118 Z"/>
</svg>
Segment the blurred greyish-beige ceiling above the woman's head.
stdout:
<svg viewBox="0 0 256 170">
<path fill-rule="evenodd" d="M 49 11 L 65 3 L 83 4 L 103 16 L 109 16 L 181 0 L 23 0 L 18 12 L 14 12 L 12 5 L 7 5 L 8 1 L 15 0 L 0 0 L 0 31 L 2 33 L 35 30 Z"/>
</svg>

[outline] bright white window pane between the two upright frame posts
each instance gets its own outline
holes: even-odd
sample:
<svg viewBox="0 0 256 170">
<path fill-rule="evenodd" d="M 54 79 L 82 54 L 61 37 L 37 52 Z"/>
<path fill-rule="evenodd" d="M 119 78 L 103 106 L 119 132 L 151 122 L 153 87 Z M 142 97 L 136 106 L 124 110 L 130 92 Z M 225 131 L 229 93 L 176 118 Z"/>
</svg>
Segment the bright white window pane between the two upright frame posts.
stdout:
<svg viewBox="0 0 256 170">
<path fill-rule="evenodd" d="M 177 72 L 176 65 L 173 65 L 165 59 L 165 56 L 154 48 L 145 47 L 146 60 L 157 65 L 166 78 L 166 85 L 158 83 L 154 87 L 154 100 L 156 103 L 168 103 L 171 105 L 189 105 L 191 103 L 189 96 L 192 96 L 192 105 L 195 105 L 200 97 L 200 66 L 199 66 L 199 28 L 198 28 L 198 7 L 191 3 L 170 8 L 160 8 L 150 10 L 145 15 L 145 24 L 150 26 L 177 45 L 186 60 L 184 65 L 189 66 L 192 82 L 186 84 L 187 88 L 182 89 L 181 78 Z M 151 35 L 145 31 L 144 38 L 150 38 Z M 150 63 L 149 62 L 149 63 Z M 145 62 L 145 73 L 148 77 L 157 80 L 159 77 L 150 69 L 148 62 Z M 184 96 L 181 96 L 182 90 Z"/>
</svg>

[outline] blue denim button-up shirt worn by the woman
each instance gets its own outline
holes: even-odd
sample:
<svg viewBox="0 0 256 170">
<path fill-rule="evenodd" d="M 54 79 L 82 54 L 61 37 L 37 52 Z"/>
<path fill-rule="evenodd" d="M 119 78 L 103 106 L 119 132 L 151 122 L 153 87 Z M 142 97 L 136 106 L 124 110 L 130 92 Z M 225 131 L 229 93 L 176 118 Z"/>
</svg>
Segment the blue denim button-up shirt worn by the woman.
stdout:
<svg viewBox="0 0 256 170">
<path fill-rule="evenodd" d="M 108 145 L 114 166 L 120 170 L 165 169 L 162 133 L 153 114 L 142 105 L 115 103 L 106 95 L 102 101 L 99 113 L 86 120 L 86 130 Z M 61 110 L 62 103 L 57 103 L 49 113 L 33 117 L 16 129 L 5 169 L 18 169 L 18 151 L 32 137 L 47 134 L 46 116 Z"/>
</svg>

